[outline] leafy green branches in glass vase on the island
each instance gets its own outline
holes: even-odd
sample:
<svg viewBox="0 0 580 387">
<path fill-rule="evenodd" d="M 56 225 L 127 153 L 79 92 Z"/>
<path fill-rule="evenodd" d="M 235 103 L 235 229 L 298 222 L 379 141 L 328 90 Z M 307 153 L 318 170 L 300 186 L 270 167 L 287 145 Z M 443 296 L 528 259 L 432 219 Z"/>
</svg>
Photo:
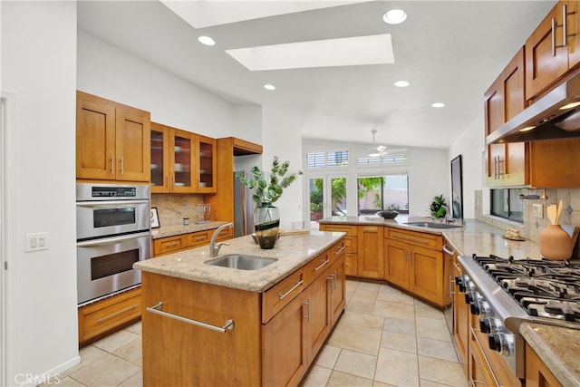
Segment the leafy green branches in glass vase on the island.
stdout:
<svg viewBox="0 0 580 387">
<path fill-rule="evenodd" d="M 257 166 L 250 169 L 252 172 L 250 178 L 236 172 L 237 179 L 243 185 L 254 189 L 252 195 L 252 200 L 256 202 L 254 229 L 257 243 L 262 248 L 273 248 L 278 239 L 280 213 L 272 203 L 282 196 L 284 189 L 294 182 L 297 175 L 302 175 L 301 170 L 288 174 L 289 167 L 290 161 L 280 163 L 278 157 L 274 156 L 269 173 Z"/>
</svg>

